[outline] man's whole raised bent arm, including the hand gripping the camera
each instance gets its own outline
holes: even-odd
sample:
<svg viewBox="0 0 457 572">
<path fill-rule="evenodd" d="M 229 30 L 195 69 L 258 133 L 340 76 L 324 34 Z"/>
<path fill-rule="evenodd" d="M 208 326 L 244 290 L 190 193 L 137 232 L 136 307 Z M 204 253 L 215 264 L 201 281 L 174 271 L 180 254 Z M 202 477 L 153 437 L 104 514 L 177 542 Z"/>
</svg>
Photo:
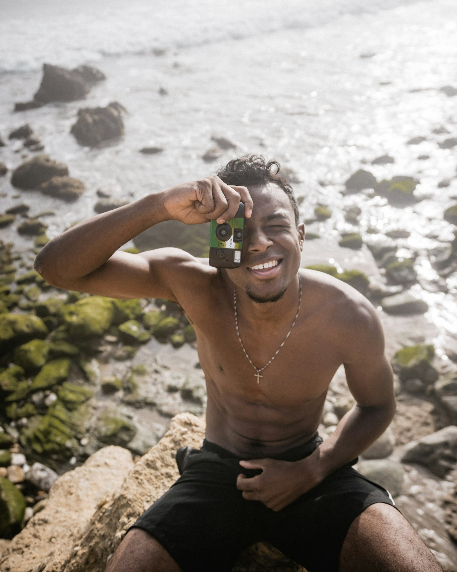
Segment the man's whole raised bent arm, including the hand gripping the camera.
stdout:
<svg viewBox="0 0 457 572">
<path fill-rule="evenodd" d="M 174 299 L 170 278 L 179 266 L 195 259 L 179 249 L 161 248 L 131 255 L 117 252 L 123 244 L 154 224 L 180 220 L 202 224 L 230 220 L 252 200 L 246 187 L 228 186 L 219 177 L 174 186 L 75 225 L 51 240 L 35 259 L 35 269 L 58 287 L 119 298 Z"/>
</svg>

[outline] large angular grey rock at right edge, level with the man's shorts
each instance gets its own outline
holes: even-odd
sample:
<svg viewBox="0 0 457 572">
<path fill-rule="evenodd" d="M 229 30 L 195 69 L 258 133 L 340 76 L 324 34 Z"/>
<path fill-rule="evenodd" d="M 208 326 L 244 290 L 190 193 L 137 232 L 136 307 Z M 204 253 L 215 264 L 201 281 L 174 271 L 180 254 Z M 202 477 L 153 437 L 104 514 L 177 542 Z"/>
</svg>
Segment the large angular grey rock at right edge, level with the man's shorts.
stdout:
<svg viewBox="0 0 457 572">
<path fill-rule="evenodd" d="M 457 427 L 449 425 L 404 447 L 403 463 L 423 464 L 440 478 L 445 478 L 457 463 Z"/>
</svg>

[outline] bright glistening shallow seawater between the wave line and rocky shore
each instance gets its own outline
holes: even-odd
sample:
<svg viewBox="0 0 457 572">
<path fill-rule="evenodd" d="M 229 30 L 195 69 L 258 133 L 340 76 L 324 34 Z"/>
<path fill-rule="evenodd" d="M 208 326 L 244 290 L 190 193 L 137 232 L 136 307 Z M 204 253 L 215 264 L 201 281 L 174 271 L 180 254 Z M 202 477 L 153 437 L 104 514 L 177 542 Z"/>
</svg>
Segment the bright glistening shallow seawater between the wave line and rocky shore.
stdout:
<svg viewBox="0 0 457 572">
<path fill-rule="evenodd" d="M 446 246 L 454 237 L 443 211 L 456 202 L 452 197 L 457 197 L 457 148 L 441 149 L 439 144 L 457 135 L 457 97 L 440 91 L 446 85 L 457 86 L 456 15 L 450 0 L 419 2 L 375 14 L 327 18 L 330 23 L 320 27 L 273 27 L 238 39 L 173 46 L 163 55 L 98 53 L 94 60 L 107 80 L 84 101 L 23 113 L 13 113 L 13 104 L 33 95 L 41 74 L 33 66 L 26 72 L 0 74 L 3 139 L 11 129 L 29 122 L 45 143 L 45 152 L 66 162 L 71 176 L 87 186 L 83 197 L 69 205 L 37 191 L 18 192 L 7 176 L 0 180 L 0 192 L 5 194 L 1 210 L 21 201 L 30 204 L 32 214 L 54 210 L 55 216 L 43 220 L 49 224 L 49 236 L 55 236 L 94 215 L 95 192 L 101 186 L 133 200 L 207 176 L 236 153 L 262 153 L 295 173 L 303 220 L 313 216 L 318 204 L 332 210 L 331 219 L 308 225 L 308 231 L 321 238 L 306 241 L 303 264 L 330 261 L 383 281 L 365 245 L 360 251 L 338 246 L 341 233 L 358 231 L 364 240 L 376 241 L 386 240 L 384 233 L 392 229 L 410 231 L 407 239 L 395 243 L 402 256 L 416 257 L 420 283 L 412 289 L 430 305 L 430 311 L 414 323 L 439 349 L 448 333 L 457 335 L 456 277 L 447 278 L 447 293 L 433 291 L 430 284 L 438 276 L 428 256 L 429 250 Z M 81 52 L 74 63 L 86 59 Z M 161 96 L 161 87 L 169 94 Z M 110 101 L 127 109 L 125 136 L 98 149 L 79 146 L 69 133 L 77 110 Z M 439 127 L 448 133 L 434 133 Z M 219 133 L 238 148 L 207 163 L 202 155 L 214 145 L 211 135 Z M 418 136 L 426 140 L 407 144 Z M 139 153 L 151 144 L 165 151 L 152 156 Z M 371 164 L 384 154 L 395 162 Z M 19 144 L 0 148 L 0 161 L 10 169 L 25 156 L 30 153 Z M 423 156 L 428 158 L 419 158 Z M 359 168 L 378 180 L 415 177 L 420 181 L 415 194 L 422 200 L 395 208 L 370 192 L 343 194 L 344 181 Z M 450 185 L 439 188 L 444 179 Z M 344 219 L 344 210 L 352 205 L 362 209 L 356 225 Z M 30 240 L 15 232 L 15 225 L 1 229 L 0 237 L 14 241 L 21 250 L 31 247 Z M 399 332 L 410 324 L 384 318 Z"/>
</svg>

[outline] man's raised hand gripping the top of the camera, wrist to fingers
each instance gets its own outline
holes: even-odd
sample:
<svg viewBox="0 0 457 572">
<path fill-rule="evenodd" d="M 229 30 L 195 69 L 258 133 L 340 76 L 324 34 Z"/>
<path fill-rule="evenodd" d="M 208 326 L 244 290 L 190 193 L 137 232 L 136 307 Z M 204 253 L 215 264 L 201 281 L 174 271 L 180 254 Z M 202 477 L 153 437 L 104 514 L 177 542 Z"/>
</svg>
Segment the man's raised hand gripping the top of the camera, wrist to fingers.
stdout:
<svg viewBox="0 0 457 572">
<path fill-rule="evenodd" d="M 185 224 L 202 224 L 217 219 L 226 223 L 244 203 L 244 216 L 250 218 L 252 198 L 245 186 L 229 186 L 219 177 L 206 177 L 177 185 L 163 192 L 162 205 L 170 219 Z"/>
</svg>

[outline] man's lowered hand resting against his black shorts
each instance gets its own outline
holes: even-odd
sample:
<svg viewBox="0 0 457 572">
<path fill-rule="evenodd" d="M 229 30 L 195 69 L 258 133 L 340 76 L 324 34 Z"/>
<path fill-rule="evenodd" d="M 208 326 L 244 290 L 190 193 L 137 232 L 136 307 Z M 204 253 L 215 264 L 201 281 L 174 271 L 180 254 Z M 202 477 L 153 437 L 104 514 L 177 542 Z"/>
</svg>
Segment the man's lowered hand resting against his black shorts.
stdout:
<svg viewBox="0 0 457 572">
<path fill-rule="evenodd" d="M 240 461 L 243 468 L 262 469 L 262 474 L 248 479 L 239 474 L 236 487 L 243 491 L 247 501 L 263 502 L 268 509 L 278 511 L 322 480 L 316 474 L 314 459 L 300 461 L 279 461 L 276 459 L 254 459 Z"/>
</svg>

